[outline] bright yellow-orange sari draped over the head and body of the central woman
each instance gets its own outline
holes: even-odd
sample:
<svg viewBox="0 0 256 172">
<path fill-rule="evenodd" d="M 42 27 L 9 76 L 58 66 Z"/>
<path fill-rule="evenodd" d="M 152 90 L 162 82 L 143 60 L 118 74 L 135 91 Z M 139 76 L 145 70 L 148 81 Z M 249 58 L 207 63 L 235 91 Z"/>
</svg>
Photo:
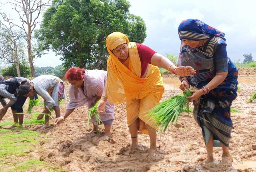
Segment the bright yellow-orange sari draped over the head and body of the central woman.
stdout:
<svg viewBox="0 0 256 172">
<path fill-rule="evenodd" d="M 122 64 L 112 50 L 123 43 L 128 45 L 129 57 Z M 123 33 L 113 32 L 108 35 L 106 46 L 110 54 L 106 84 L 108 102 L 119 104 L 126 101 L 128 126 L 139 118 L 139 131 L 148 133 L 145 123 L 157 129 L 155 122 L 145 115 L 159 103 L 164 93 L 160 70 L 148 64 L 147 74 L 141 78 L 141 60 L 136 43 L 129 42 Z"/>
</svg>

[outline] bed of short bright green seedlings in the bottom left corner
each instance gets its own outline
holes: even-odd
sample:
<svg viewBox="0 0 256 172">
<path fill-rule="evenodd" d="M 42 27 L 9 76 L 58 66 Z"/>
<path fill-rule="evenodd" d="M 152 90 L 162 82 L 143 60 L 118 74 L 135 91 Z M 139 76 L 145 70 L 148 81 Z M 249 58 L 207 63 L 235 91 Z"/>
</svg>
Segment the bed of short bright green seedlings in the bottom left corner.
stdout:
<svg viewBox="0 0 256 172">
<path fill-rule="evenodd" d="M 46 151 L 39 144 L 46 135 L 29 131 L 23 127 L 11 131 L 0 129 L 0 169 L 5 172 L 26 172 L 29 170 L 50 172 L 66 171 L 47 160 L 38 160 L 33 150 Z"/>
</svg>

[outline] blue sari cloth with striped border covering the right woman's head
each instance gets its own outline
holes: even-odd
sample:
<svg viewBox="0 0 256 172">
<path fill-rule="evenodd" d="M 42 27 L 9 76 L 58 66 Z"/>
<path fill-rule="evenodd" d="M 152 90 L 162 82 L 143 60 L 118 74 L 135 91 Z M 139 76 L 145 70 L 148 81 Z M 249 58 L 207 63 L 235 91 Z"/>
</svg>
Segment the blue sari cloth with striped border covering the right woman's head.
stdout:
<svg viewBox="0 0 256 172">
<path fill-rule="evenodd" d="M 198 19 L 183 20 L 178 28 L 179 39 L 199 41 L 213 36 L 223 37 L 225 33 L 201 22 Z M 226 40 L 226 39 L 224 39 Z"/>
</svg>

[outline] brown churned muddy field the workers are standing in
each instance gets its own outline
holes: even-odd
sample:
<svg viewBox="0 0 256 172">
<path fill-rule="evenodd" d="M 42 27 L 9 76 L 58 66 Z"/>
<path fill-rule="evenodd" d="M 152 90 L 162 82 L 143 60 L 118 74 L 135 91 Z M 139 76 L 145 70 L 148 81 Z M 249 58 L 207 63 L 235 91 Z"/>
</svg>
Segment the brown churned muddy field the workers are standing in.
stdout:
<svg viewBox="0 0 256 172">
<path fill-rule="evenodd" d="M 232 113 L 234 123 L 230 143 L 230 153 L 233 155 L 232 167 L 218 166 L 222 155 L 221 148 L 214 148 L 216 161 L 213 164 L 204 164 L 206 150 L 201 129 L 195 123 L 192 114 L 187 113 L 180 115 L 177 127 L 170 125 L 165 135 L 158 136 L 159 155 L 154 160 L 148 160 L 147 157 L 150 144 L 148 135 L 138 135 L 141 150 L 128 149 L 131 137 L 126 121 L 125 104 L 115 106 L 112 137 L 108 141 L 99 141 L 99 134 L 90 133 L 90 130 L 86 129 L 87 107 L 77 108 L 65 123 L 59 126 L 51 125 L 44 129 L 41 125 L 26 127 L 44 133 L 50 138 L 42 144 L 48 152 L 46 154 L 36 152 L 36 156 L 71 172 L 256 171 L 256 102 L 247 102 L 247 99 L 256 92 L 255 68 L 252 68 L 250 74 L 248 71 L 243 69 L 240 71 L 241 90 L 238 91 L 238 97 L 232 104 L 233 108 L 241 111 Z M 168 84 L 168 81 L 166 82 Z M 65 82 L 65 91 L 68 95 L 67 82 Z M 181 93 L 179 90 L 166 90 L 162 100 L 179 93 Z M 60 105 L 62 113 L 66 103 Z M 25 109 L 27 104 L 26 102 Z M 40 112 L 42 109 L 42 106 L 36 106 L 33 111 Z M 29 116 L 30 114 L 26 114 L 24 118 Z M 3 121 L 12 120 L 11 110 L 8 110 Z M 92 125 L 90 128 L 92 129 Z M 100 130 L 103 129 L 104 127 L 100 126 Z"/>
</svg>

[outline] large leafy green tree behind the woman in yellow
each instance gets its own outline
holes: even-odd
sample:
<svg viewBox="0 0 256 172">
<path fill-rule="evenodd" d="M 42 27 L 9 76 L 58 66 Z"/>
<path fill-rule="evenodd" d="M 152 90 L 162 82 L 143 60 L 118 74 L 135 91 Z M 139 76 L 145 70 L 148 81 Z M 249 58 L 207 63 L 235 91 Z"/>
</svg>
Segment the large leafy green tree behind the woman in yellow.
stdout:
<svg viewBox="0 0 256 172">
<path fill-rule="evenodd" d="M 40 51 L 61 55 L 63 67 L 79 66 L 106 70 L 107 35 L 119 31 L 130 41 L 142 43 L 146 25 L 129 13 L 127 0 L 54 0 L 35 32 Z"/>
</svg>

